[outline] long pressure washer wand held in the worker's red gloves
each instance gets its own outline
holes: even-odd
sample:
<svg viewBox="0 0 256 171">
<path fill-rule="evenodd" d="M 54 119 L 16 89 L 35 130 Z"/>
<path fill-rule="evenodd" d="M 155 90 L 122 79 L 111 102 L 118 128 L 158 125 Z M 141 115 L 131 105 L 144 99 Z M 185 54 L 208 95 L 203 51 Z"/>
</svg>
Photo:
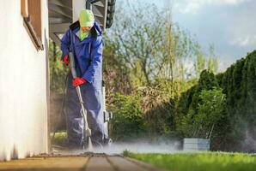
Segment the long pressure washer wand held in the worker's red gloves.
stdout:
<svg viewBox="0 0 256 171">
<path fill-rule="evenodd" d="M 74 58 L 72 52 L 70 52 L 69 56 L 70 56 L 71 74 L 72 74 L 73 79 L 76 79 L 77 75 L 76 75 L 75 58 Z M 82 94 L 81 94 L 81 89 L 80 89 L 79 85 L 76 86 L 76 93 L 77 93 L 77 96 L 79 98 L 79 103 L 81 104 L 82 118 L 83 118 L 83 123 L 84 123 L 84 133 L 85 133 L 86 137 L 90 137 L 92 133 L 91 133 L 91 129 L 88 127 L 87 111 L 83 106 Z M 83 136 L 83 140 L 84 140 L 84 136 Z"/>
</svg>

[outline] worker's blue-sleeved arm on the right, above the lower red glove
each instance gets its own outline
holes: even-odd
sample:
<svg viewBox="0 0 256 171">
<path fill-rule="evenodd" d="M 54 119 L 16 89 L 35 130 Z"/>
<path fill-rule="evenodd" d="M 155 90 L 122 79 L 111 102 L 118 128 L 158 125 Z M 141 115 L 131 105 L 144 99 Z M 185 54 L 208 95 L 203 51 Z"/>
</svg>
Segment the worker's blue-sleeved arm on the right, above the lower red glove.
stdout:
<svg viewBox="0 0 256 171">
<path fill-rule="evenodd" d="M 91 47 L 91 57 L 92 61 L 88 67 L 88 70 L 82 75 L 82 78 L 87 80 L 89 83 L 92 83 L 94 78 L 99 76 L 102 65 L 102 51 L 103 51 L 103 42 L 102 36 L 98 36 L 94 39 Z"/>
</svg>

